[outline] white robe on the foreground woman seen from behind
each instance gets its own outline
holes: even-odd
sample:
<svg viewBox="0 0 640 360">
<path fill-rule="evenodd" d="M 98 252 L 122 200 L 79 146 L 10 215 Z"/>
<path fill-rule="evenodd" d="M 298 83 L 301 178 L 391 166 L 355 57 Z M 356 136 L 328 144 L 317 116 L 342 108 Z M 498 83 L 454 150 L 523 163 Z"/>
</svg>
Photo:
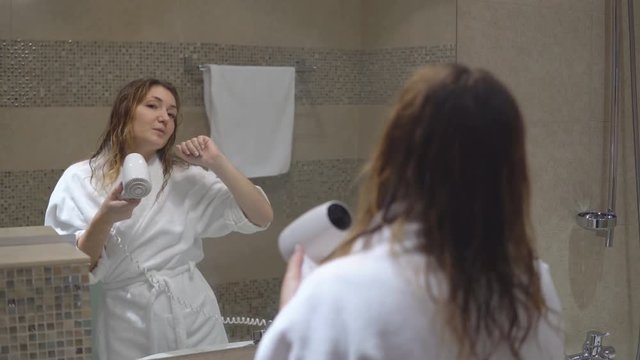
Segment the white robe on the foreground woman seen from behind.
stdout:
<svg viewBox="0 0 640 360">
<path fill-rule="evenodd" d="M 261 339 L 255 360 L 456 359 L 441 307 L 425 291 L 429 286 L 442 299 L 444 279 L 425 273 L 425 255 L 407 251 L 417 242 L 415 230 L 407 229 L 407 240 L 392 247 L 391 231 L 383 228 L 370 247 L 360 239 L 352 254 L 304 278 Z M 553 312 L 532 328 L 522 359 L 563 360 L 560 300 L 547 265 L 536 261 L 536 268 Z M 490 350 L 491 359 L 512 358 L 505 344 Z"/>
</svg>

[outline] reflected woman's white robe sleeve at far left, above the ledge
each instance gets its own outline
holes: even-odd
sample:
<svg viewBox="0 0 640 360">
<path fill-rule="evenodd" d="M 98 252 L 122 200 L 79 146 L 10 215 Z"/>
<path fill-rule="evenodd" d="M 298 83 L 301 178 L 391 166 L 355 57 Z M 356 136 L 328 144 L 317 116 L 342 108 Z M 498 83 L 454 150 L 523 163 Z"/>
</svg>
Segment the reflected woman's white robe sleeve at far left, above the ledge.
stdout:
<svg viewBox="0 0 640 360">
<path fill-rule="evenodd" d="M 45 212 L 44 224 L 51 226 L 58 234 L 74 234 L 77 241 L 95 213 L 96 204 L 100 203 L 84 174 L 82 163 L 70 166 L 62 174 L 56 184 Z M 109 263 L 105 250 L 98 260 L 97 266 L 89 273 L 90 282 L 94 283 L 106 272 Z"/>
</svg>

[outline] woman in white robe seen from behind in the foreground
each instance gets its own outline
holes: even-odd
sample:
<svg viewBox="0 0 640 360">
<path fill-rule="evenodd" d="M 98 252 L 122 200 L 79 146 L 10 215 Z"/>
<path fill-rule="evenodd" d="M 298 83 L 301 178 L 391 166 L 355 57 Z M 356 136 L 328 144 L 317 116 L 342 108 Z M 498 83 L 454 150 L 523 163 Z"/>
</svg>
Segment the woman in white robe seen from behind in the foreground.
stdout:
<svg viewBox="0 0 640 360">
<path fill-rule="evenodd" d="M 367 169 L 333 259 L 302 283 L 303 250 L 290 259 L 257 360 L 564 359 L 529 234 L 523 121 L 498 80 L 418 71 Z"/>
</svg>

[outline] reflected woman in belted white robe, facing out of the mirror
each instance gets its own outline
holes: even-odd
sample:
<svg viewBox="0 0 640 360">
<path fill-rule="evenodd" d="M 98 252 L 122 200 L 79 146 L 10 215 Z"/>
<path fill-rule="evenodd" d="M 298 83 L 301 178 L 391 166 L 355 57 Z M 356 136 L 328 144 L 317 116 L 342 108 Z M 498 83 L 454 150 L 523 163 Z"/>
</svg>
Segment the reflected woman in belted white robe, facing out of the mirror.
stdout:
<svg viewBox="0 0 640 360">
<path fill-rule="evenodd" d="M 195 267 L 201 239 L 259 231 L 273 217 L 262 190 L 211 139 L 174 145 L 179 109 L 171 84 L 129 83 L 98 150 L 70 166 L 51 194 L 45 224 L 76 235 L 102 282 L 95 328 L 102 360 L 226 343 L 215 295 Z M 153 188 L 142 200 L 120 197 L 129 153 L 149 167 Z"/>
</svg>

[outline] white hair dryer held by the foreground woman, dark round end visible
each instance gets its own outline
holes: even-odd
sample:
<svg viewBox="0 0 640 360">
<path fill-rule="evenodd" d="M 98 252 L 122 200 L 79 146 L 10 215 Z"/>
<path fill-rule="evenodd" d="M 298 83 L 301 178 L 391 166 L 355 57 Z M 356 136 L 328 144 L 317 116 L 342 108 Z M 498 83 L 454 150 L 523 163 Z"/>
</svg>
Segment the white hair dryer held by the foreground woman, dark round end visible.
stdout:
<svg viewBox="0 0 640 360">
<path fill-rule="evenodd" d="M 351 214 L 347 206 L 328 201 L 308 210 L 282 230 L 278 237 L 280 254 L 288 261 L 295 246 L 301 245 L 305 252 L 304 277 L 344 241 L 350 227 Z"/>
</svg>

